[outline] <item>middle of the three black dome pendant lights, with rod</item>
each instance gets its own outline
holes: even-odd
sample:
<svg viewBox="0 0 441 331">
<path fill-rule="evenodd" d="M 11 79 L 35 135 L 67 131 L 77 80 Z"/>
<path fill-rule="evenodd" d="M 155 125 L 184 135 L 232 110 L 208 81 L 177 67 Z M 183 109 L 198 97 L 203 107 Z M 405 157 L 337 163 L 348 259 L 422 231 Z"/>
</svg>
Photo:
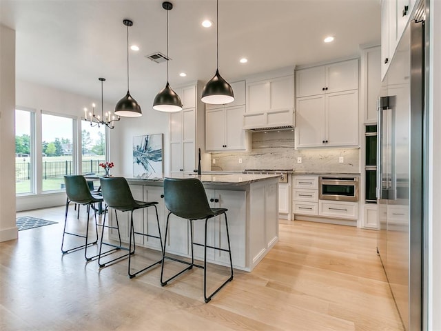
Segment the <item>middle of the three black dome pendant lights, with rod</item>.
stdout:
<svg viewBox="0 0 441 331">
<path fill-rule="evenodd" d="M 168 11 L 172 10 L 173 5 L 168 1 L 164 1 L 163 8 L 167 10 L 167 84 L 165 84 L 165 88 L 161 92 L 156 94 L 153 101 L 153 109 L 160 112 L 178 112 L 182 110 L 181 98 L 170 88 L 168 83 L 168 61 L 170 61 L 168 57 Z"/>
</svg>

